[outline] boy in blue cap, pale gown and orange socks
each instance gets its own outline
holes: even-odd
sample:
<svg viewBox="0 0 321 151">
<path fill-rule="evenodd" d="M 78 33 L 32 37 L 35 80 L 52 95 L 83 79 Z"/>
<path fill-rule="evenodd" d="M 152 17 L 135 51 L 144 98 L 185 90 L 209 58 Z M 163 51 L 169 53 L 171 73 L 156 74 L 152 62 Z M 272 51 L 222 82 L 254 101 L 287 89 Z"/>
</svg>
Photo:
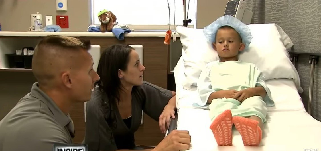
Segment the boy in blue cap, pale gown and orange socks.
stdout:
<svg viewBox="0 0 321 151">
<path fill-rule="evenodd" d="M 258 146 L 262 139 L 267 108 L 273 106 L 262 72 L 252 63 L 238 59 L 252 36 L 247 25 L 232 16 L 222 16 L 204 28 L 219 61 L 202 70 L 197 87 L 200 106 L 210 104 L 214 138 L 219 146 L 232 145 L 232 125 L 240 132 L 245 146 Z"/>
</svg>

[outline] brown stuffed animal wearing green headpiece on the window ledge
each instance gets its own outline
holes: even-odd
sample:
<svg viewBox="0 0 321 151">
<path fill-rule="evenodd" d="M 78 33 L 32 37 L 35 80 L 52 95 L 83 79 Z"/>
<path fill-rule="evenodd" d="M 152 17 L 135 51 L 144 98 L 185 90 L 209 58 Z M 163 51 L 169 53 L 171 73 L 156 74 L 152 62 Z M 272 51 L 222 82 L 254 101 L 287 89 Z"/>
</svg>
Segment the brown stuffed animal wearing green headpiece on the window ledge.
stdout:
<svg viewBox="0 0 321 151">
<path fill-rule="evenodd" d="M 100 31 L 111 32 L 117 19 L 116 16 L 111 11 L 107 11 L 106 9 L 104 9 L 98 13 L 98 18 L 101 23 Z"/>
</svg>

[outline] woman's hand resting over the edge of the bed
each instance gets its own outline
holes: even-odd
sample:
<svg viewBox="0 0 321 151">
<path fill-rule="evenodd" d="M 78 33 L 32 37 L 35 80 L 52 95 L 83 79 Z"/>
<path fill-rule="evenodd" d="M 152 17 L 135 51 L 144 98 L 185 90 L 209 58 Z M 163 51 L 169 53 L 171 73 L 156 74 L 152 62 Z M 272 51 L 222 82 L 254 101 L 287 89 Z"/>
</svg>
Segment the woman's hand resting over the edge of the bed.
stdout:
<svg viewBox="0 0 321 151">
<path fill-rule="evenodd" d="M 166 105 L 163 112 L 161 113 L 160 117 L 159 117 L 159 126 L 160 126 L 160 131 L 165 134 L 167 128 L 169 127 L 169 123 L 170 123 L 170 118 L 175 119 L 175 109 L 176 109 L 176 105 Z"/>
</svg>

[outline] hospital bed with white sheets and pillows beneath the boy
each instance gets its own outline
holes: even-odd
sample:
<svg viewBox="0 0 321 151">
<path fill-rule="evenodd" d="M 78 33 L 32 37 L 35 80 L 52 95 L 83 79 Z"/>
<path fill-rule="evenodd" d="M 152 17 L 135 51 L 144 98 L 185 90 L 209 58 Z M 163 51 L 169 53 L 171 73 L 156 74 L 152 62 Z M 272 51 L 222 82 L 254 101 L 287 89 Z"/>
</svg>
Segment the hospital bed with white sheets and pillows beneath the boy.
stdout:
<svg viewBox="0 0 321 151">
<path fill-rule="evenodd" d="M 178 117 L 172 120 L 169 131 L 187 130 L 191 135 L 190 150 L 195 151 L 215 151 L 215 150 L 308 150 L 308 149 L 321 149 L 321 122 L 315 120 L 310 116 L 302 103 L 301 97 L 298 92 L 302 92 L 300 87 L 299 75 L 289 59 L 286 48 L 290 48 L 293 43 L 291 39 L 284 33 L 282 28 L 276 24 L 260 24 L 248 25 L 251 26 L 251 34 L 253 36 L 250 47 L 255 49 L 270 47 L 273 50 L 264 50 L 265 52 L 256 51 L 256 53 L 247 53 L 252 57 L 260 56 L 259 53 L 264 53 L 263 56 L 267 59 L 273 57 L 276 63 L 269 63 L 269 68 L 272 72 L 268 73 L 264 69 L 262 62 L 266 61 L 259 58 L 256 65 L 263 68 L 263 73 L 268 77 L 266 80 L 269 87 L 272 99 L 275 106 L 268 107 L 267 122 L 264 124 L 264 132 L 262 135 L 262 142 L 259 147 L 244 147 L 242 138 L 238 131 L 233 127 L 233 146 L 217 146 L 212 131 L 209 129 L 211 120 L 209 118 L 209 110 L 198 109 L 193 107 L 193 103 L 200 101 L 197 86 L 195 84 L 186 86 L 187 80 L 195 81 L 195 78 L 188 78 L 191 71 L 191 60 L 188 60 L 188 55 L 194 55 L 197 60 L 198 57 L 203 57 L 200 62 L 194 63 L 193 69 L 201 68 L 206 63 L 204 56 L 212 55 L 213 52 L 201 52 L 203 49 L 210 49 L 204 42 L 202 37 L 202 29 L 188 29 L 185 27 L 178 27 L 177 31 L 180 34 L 181 42 L 183 44 L 183 55 L 179 59 L 176 67 L 174 68 L 176 93 L 177 93 L 177 109 Z M 273 33 L 277 37 L 273 37 Z M 272 35 L 272 36 L 271 36 Z M 274 36 L 275 36 L 274 35 Z M 275 40 L 269 40 L 269 37 Z M 203 39 L 202 39 L 203 38 Z M 196 39 L 201 39 L 197 41 Z M 196 41 L 195 41 L 196 40 Z M 193 42 L 194 41 L 194 42 Z M 267 42 L 266 42 L 267 41 Z M 264 44 L 266 42 L 266 44 Z M 280 44 L 281 42 L 281 44 Z M 193 47 L 195 43 L 196 47 Z M 257 46 L 257 45 L 259 46 Z M 260 46 L 262 45 L 262 46 Z M 282 47 L 280 49 L 276 46 Z M 194 48 L 194 50 L 193 50 Z M 195 52 L 187 52 L 196 51 Z M 192 49 L 192 50 L 191 50 Z M 276 49 L 276 51 L 274 51 Z M 252 49 L 250 49 L 252 50 Z M 274 52 L 273 52 L 274 51 Z M 284 51 L 284 52 L 283 52 Z M 194 54 L 193 54 L 194 53 Z M 204 53 L 202 55 L 202 53 Z M 208 54 L 206 54 L 208 53 Z M 275 54 L 273 54 L 275 53 Z M 274 55 L 274 56 L 273 56 Z M 187 57 L 187 58 L 184 58 Z M 215 57 L 215 56 L 213 56 Z M 282 58 L 283 57 L 283 58 Z M 240 56 L 243 60 L 255 62 L 255 59 Z M 286 58 L 284 60 L 284 58 Z M 193 57 L 192 57 L 193 59 Z M 205 62 L 204 62 L 205 60 Z M 203 62 L 202 62 L 203 61 Z M 209 61 L 209 60 L 207 60 Z M 266 62 L 267 63 L 267 62 Z M 276 67 L 272 66 L 287 66 Z M 260 68 L 259 67 L 259 68 Z M 261 68 L 260 68 L 261 69 Z M 281 70 L 281 71 L 279 71 Z M 267 74 L 266 74 L 267 73 Z M 273 77 L 274 75 L 276 77 Z M 197 74 L 196 74 L 197 75 Z M 272 76 L 271 76 L 272 75 Z M 284 75 L 284 76 L 283 76 Z M 192 82 L 191 82 L 192 83 Z M 188 84 L 187 84 L 188 85 Z"/>
</svg>

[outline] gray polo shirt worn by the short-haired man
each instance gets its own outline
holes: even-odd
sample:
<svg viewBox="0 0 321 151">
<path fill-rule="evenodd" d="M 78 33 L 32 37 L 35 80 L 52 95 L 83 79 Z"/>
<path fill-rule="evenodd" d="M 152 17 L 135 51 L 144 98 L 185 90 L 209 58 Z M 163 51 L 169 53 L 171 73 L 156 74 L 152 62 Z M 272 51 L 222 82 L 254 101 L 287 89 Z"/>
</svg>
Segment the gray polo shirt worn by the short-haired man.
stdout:
<svg viewBox="0 0 321 151">
<path fill-rule="evenodd" d="M 74 124 L 34 83 L 31 92 L 0 121 L 0 151 L 52 151 L 72 143 Z"/>
</svg>

